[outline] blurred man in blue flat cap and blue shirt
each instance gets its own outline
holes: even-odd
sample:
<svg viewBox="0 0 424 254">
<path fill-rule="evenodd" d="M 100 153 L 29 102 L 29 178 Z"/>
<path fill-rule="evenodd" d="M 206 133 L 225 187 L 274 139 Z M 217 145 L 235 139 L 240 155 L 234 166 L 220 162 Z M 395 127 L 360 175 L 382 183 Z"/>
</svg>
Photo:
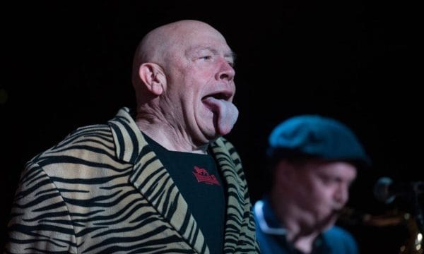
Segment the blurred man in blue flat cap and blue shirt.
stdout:
<svg viewBox="0 0 424 254">
<path fill-rule="evenodd" d="M 318 115 L 294 116 L 269 136 L 270 189 L 254 205 L 261 253 L 358 253 L 335 226 L 349 187 L 370 159 L 350 128 Z"/>
</svg>

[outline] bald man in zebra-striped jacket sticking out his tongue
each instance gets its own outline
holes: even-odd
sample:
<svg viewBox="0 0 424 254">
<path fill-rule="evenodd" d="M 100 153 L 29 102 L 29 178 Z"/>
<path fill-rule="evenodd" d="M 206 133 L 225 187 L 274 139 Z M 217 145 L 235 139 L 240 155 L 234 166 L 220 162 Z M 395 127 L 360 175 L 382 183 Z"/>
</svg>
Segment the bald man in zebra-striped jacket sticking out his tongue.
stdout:
<svg viewBox="0 0 424 254">
<path fill-rule="evenodd" d="M 180 20 L 143 37 L 136 109 L 85 126 L 28 162 L 10 253 L 258 253 L 247 183 L 223 135 L 237 120 L 235 56 Z"/>
</svg>

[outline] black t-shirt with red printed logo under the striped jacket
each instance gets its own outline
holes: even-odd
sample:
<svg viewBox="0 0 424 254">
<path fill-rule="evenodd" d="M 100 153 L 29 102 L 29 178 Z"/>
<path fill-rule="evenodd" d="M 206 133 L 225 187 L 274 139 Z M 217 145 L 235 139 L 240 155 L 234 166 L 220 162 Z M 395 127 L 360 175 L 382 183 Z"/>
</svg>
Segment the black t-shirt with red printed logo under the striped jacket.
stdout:
<svg viewBox="0 0 424 254">
<path fill-rule="evenodd" d="M 223 253 L 225 193 L 215 159 L 211 155 L 169 151 L 144 136 L 187 201 L 211 253 Z"/>
</svg>

